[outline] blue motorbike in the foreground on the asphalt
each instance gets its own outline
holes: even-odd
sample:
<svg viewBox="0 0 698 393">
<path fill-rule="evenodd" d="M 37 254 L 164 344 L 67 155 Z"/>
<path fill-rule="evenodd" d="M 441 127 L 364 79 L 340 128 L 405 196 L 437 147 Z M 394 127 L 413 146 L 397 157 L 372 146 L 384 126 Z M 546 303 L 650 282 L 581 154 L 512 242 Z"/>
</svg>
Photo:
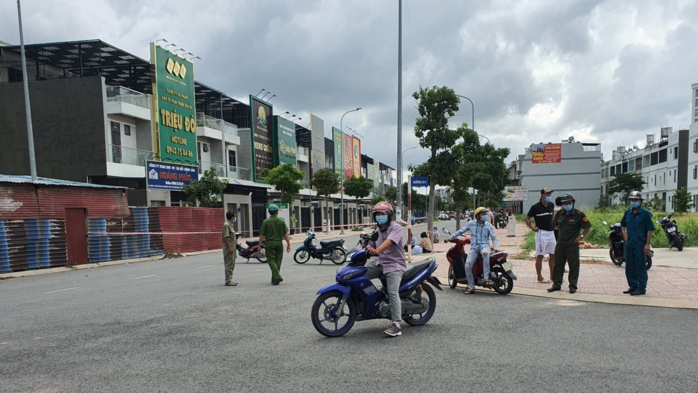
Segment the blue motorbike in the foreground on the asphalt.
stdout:
<svg viewBox="0 0 698 393">
<path fill-rule="evenodd" d="M 318 298 L 313 303 L 311 319 L 313 326 L 323 336 L 339 337 L 354 326 L 357 320 L 390 318 L 390 307 L 385 279 L 381 279 L 383 288 L 373 286 L 366 279 L 366 261 L 369 253 L 356 251 L 351 262 L 337 270 L 336 283 L 318 291 Z M 402 318 L 411 326 L 424 325 L 429 322 L 436 310 L 436 292 L 440 283 L 431 276 L 438 264 L 436 258 L 408 265 L 400 283 Z"/>
</svg>

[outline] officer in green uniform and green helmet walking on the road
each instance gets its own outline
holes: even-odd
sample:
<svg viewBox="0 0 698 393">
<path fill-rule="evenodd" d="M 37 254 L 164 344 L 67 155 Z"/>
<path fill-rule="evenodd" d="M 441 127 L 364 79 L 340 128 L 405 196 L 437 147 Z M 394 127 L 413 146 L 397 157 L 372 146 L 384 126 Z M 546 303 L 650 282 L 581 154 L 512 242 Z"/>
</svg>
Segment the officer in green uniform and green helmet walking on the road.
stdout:
<svg viewBox="0 0 698 393">
<path fill-rule="evenodd" d="M 279 207 L 269 205 L 269 218 L 262 222 L 260 228 L 260 244 L 267 239 L 267 263 L 272 269 L 272 286 L 278 286 L 281 278 L 281 260 L 283 259 L 283 240 L 286 241 L 286 252 L 291 252 L 291 238 L 288 237 L 288 226 L 283 218 L 279 217 Z"/>
</svg>

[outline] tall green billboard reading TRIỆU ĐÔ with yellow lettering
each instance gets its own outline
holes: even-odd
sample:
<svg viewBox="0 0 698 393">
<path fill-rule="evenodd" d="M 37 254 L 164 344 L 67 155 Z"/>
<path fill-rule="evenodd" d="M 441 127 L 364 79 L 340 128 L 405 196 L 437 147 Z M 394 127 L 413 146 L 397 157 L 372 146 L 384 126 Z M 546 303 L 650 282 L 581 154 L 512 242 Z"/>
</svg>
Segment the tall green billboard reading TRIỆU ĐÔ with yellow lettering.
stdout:
<svg viewBox="0 0 698 393">
<path fill-rule="evenodd" d="M 197 165 L 194 64 L 155 43 L 150 44 L 150 62 L 156 158 Z"/>
</svg>

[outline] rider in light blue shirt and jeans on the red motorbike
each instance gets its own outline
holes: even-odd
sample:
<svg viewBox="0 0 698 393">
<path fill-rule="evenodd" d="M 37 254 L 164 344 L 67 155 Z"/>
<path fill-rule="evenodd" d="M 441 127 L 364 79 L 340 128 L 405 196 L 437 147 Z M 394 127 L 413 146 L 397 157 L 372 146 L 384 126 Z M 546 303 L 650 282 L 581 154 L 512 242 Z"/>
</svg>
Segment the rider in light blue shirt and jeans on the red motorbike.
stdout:
<svg viewBox="0 0 698 393">
<path fill-rule="evenodd" d="M 489 209 L 485 207 L 478 207 L 475 209 L 474 220 L 468 221 L 463 228 L 457 230 L 448 239 L 444 239 L 444 243 L 452 242 L 453 239 L 463 235 L 465 232 L 470 232 L 470 252 L 468 253 L 468 258 L 466 259 L 466 277 L 468 278 L 468 289 L 463 292 L 466 295 L 475 293 L 475 278 L 473 277 L 473 266 L 477 262 L 477 258 L 482 255 L 482 276 L 484 276 L 484 283 L 487 286 L 492 285 L 492 281 L 489 279 L 489 240 L 492 239 L 492 244 L 494 252 L 499 251 L 499 241 L 497 235 L 494 232 L 494 227 L 488 221 Z"/>
</svg>

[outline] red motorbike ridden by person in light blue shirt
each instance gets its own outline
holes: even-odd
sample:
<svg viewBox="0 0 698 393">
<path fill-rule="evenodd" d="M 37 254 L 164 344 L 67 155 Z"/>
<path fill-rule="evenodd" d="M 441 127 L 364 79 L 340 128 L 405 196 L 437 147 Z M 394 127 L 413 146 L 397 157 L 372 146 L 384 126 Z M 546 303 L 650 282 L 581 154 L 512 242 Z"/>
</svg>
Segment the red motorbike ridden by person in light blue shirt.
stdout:
<svg viewBox="0 0 698 393">
<path fill-rule="evenodd" d="M 447 228 L 443 228 L 443 232 L 450 235 Z M 466 257 L 468 255 L 463 249 L 466 244 L 470 244 L 470 237 L 458 236 L 452 242 L 454 245 L 446 252 L 446 259 L 450 265 L 448 267 L 448 286 L 456 288 L 458 284 L 468 285 L 466 278 Z M 507 261 L 507 258 L 509 258 L 509 253 L 506 250 L 489 255 L 489 279 L 492 281 L 492 285 L 488 286 L 484 282 L 482 274 L 482 255 L 479 255 L 473 266 L 475 286 L 491 288 L 500 295 L 507 295 L 511 292 L 517 276 L 512 271 L 512 264 Z"/>
</svg>

